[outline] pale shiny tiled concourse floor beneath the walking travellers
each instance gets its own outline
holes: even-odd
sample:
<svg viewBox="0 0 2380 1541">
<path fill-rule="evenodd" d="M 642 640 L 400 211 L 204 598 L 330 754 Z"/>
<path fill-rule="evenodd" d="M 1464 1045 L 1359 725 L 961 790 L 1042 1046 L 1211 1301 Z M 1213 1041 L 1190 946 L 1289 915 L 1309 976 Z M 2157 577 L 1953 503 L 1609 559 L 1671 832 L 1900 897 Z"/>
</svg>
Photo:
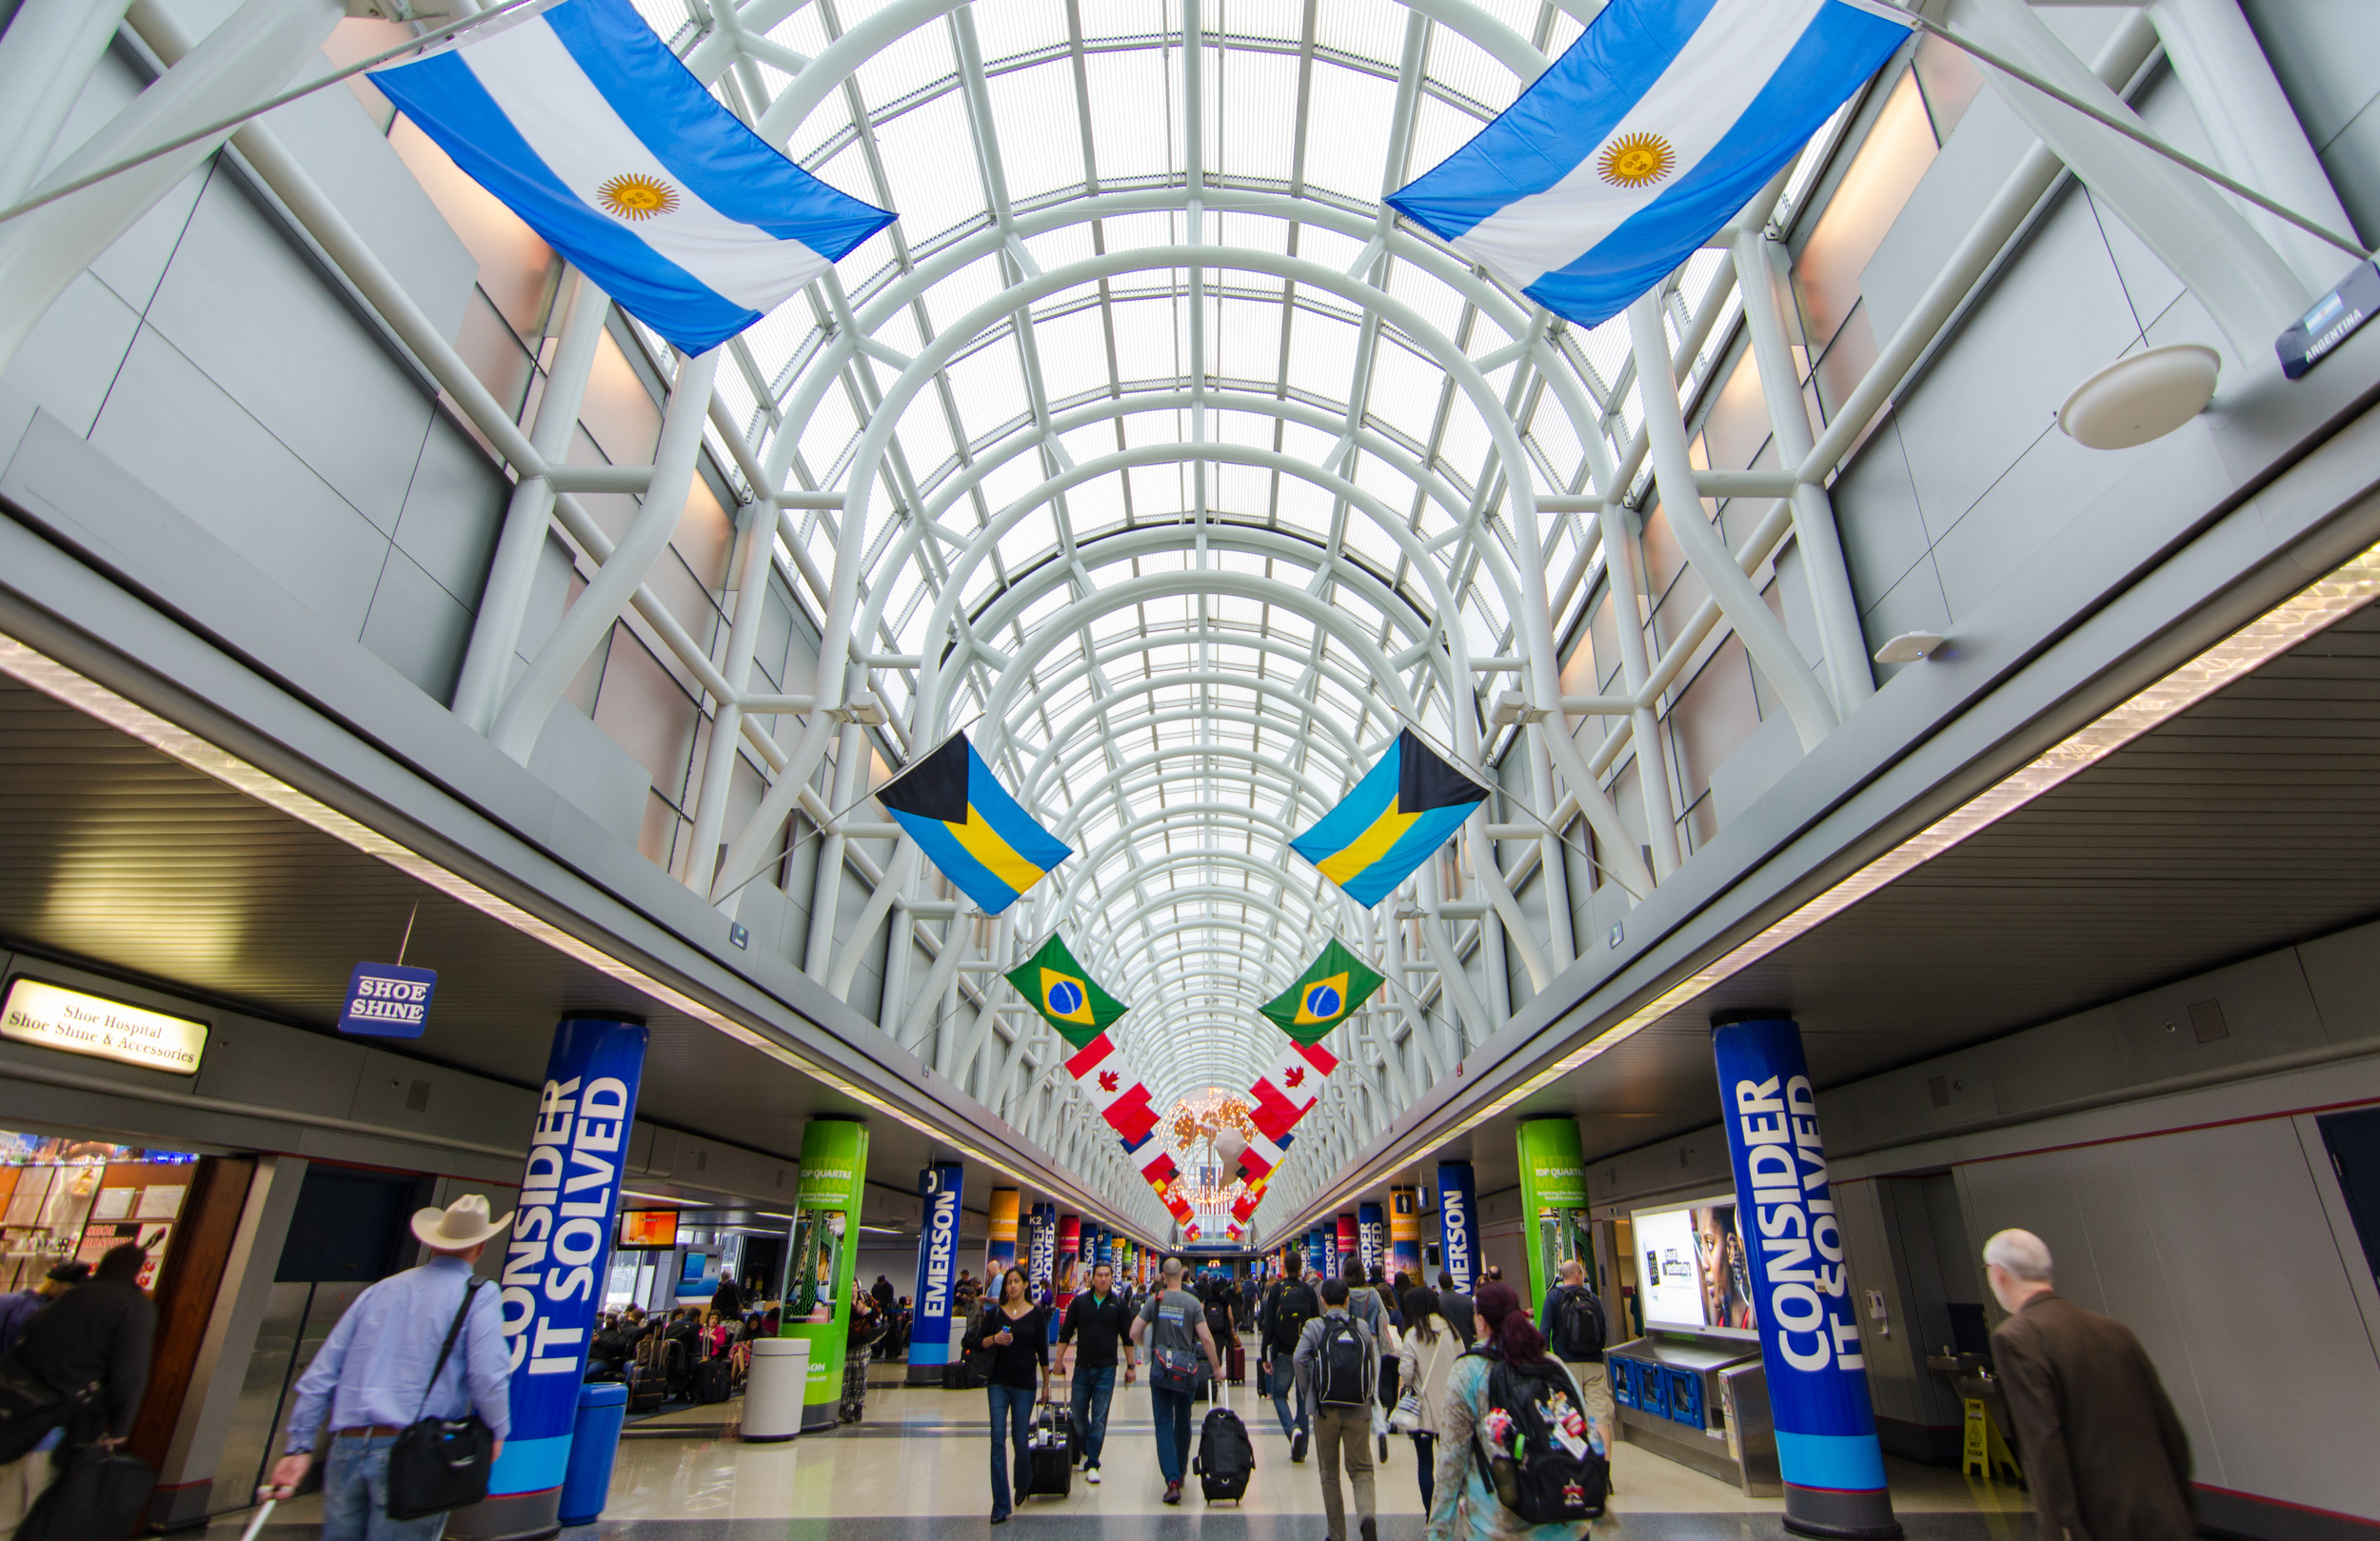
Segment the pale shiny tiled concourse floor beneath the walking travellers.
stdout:
<svg viewBox="0 0 2380 1541">
<path fill-rule="evenodd" d="M 1059 1501 L 1028 1498 L 1007 1541 L 1323 1541 L 1316 1465 L 1290 1465 L 1271 1401 L 1223 1386 L 1257 1439 L 1247 1501 L 1207 1510 L 1192 1479 L 1183 1505 L 1164 1508 L 1157 1441 L 1145 1386 L 1119 1386 L 1109 1415 L 1104 1482 L 1076 1477 Z M 688 1408 L 666 1422 L 733 1422 L 738 1403 Z M 957 1527 L 985 1527 L 990 1512 L 988 1413 L 983 1391 L 938 1386 L 869 1389 L 866 1420 L 790 1443 L 745 1446 L 724 1434 L 624 1439 L 612 1503 L 564 1541 L 931 1541 Z M 1192 1429 L 1195 1439 L 1195 1429 Z M 2023 1493 L 1964 1482 L 1954 1472 L 1887 1463 L 1894 1508 L 1914 1541 L 2025 1541 Z M 1378 1470 L 1383 1541 L 1421 1541 L 1414 1446 L 1390 1441 Z M 1611 1512 L 1602 1541 L 1752 1541 L 1783 1536 L 1778 1498 L 1740 1491 L 1635 1446 L 1614 1460 Z M 262 1541 L 312 1541 L 317 1501 L 283 1505 Z M 238 1541 L 219 1522 L 209 1541 Z M 983 1529 L 990 1536 L 990 1529 Z"/>
</svg>

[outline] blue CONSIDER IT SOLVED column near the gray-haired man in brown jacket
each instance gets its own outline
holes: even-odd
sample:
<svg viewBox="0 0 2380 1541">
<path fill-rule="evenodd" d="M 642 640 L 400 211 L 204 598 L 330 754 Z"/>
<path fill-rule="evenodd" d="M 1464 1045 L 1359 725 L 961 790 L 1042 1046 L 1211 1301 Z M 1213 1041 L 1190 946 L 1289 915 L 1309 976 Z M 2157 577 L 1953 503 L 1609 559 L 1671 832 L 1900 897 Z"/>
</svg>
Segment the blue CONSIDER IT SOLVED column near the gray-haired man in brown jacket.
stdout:
<svg viewBox="0 0 2380 1541">
<path fill-rule="evenodd" d="M 1785 1529 L 1899 1536 L 1802 1027 L 1783 1013 L 1716 1020 L 1711 1051 L 1768 1370 Z"/>
</svg>

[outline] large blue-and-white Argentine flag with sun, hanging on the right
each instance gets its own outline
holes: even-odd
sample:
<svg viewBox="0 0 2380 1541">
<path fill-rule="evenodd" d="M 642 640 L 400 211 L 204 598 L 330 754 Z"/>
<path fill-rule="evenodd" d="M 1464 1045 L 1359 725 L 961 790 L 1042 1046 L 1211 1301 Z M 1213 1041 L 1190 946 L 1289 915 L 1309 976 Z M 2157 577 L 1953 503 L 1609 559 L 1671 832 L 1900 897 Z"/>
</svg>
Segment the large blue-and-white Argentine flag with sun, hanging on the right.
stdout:
<svg viewBox="0 0 2380 1541">
<path fill-rule="evenodd" d="M 1602 326 L 1752 202 L 1909 24 L 1842 0 L 1611 0 L 1390 207 Z"/>
</svg>

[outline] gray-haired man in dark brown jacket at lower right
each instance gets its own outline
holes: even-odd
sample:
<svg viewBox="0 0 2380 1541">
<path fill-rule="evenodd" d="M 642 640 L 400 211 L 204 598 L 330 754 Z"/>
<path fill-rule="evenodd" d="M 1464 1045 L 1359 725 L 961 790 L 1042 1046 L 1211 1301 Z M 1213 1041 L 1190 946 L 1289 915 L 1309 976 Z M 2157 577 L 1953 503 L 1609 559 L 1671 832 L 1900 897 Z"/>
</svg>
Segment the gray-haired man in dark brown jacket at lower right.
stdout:
<svg viewBox="0 0 2380 1541">
<path fill-rule="evenodd" d="M 2190 1439 L 2132 1329 L 2059 1298 L 2033 1232 L 1999 1232 L 1983 1263 L 2009 1313 L 1992 1363 L 2042 1541 L 2194 1536 Z"/>
</svg>

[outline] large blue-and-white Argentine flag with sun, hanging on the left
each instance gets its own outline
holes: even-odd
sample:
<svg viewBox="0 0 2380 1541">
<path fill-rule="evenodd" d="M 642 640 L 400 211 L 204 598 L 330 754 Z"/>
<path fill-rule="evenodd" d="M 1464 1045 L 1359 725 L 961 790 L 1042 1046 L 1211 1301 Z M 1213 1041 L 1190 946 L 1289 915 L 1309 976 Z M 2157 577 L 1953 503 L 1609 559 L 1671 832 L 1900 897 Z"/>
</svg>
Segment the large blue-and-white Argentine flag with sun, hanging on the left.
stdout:
<svg viewBox="0 0 2380 1541">
<path fill-rule="evenodd" d="M 892 224 L 745 128 L 628 0 L 497 21 L 371 83 L 685 352 L 726 342 Z"/>
</svg>

